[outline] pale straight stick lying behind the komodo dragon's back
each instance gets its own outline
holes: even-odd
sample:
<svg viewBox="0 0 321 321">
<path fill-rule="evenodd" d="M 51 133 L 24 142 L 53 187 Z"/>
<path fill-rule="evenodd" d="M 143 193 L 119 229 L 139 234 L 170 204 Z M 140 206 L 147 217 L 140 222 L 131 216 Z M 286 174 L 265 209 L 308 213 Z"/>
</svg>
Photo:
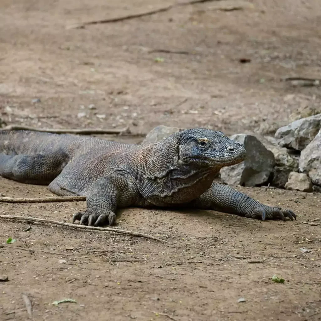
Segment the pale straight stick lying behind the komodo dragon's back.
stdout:
<svg viewBox="0 0 321 321">
<path fill-rule="evenodd" d="M 129 128 L 122 129 L 100 129 L 100 128 L 91 128 L 91 129 L 68 129 L 68 128 L 38 128 L 38 127 L 29 127 L 29 126 L 19 126 L 19 125 L 9 125 L 1 128 L 1 130 L 30 130 L 33 132 L 44 132 L 44 133 L 54 133 L 54 134 L 130 134 Z"/>
</svg>

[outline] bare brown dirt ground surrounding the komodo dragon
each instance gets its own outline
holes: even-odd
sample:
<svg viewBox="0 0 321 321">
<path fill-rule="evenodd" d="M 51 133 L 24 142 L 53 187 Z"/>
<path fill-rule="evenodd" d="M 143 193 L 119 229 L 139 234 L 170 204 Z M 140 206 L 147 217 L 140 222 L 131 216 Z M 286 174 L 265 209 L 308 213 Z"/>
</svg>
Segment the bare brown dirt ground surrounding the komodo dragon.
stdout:
<svg viewBox="0 0 321 321">
<path fill-rule="evenodd" d="M 320 78 L 319 0 L 206 1 L 70 28 L 174 3 L 0 0 L 1 118 L 39 127 L 129 127 L 131 135 L 103 137 L 139 143 L 160 124 L 273 133 L 305 107 L 321 108 L 320 87 L 283 81 Z M 240 190 L 291 208 L 298 220 L 119 213 L 118 228 L 170 246 L 56 225 L 27 230 L 27 222 L 0 220 L 0 274 L 9 277 L 0 282 L 0 320 L 30 318 L 22 293 L 32 301 L 34 320 L 321 320 L 320 194 Z M 4 178 L 0 192 L 52 195 Z M 1 203 L 0 213 L 70 222 L 84 207 Z M 9 237 L 17 241 L 6 246 Z M 285 283 L 273 283 L 274 273 Z M 52 305 L 65 298 L 77 303 Z"/>
</svg>

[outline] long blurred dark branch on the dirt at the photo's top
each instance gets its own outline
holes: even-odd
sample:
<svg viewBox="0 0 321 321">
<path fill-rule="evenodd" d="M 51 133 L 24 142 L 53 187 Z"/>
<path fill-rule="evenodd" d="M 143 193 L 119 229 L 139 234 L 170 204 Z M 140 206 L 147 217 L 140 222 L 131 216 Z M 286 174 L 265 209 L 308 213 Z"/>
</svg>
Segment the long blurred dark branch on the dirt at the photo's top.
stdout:
<svg viewBox="0 0 321 321">
<path fill-rule="evenodd" d="M 75 23 L 73 25 L 67 26 L 66 29 L 81 29 L 81 28 L 84 28 L 85 26 L 88 26 L 91 24 L 111 23 L 111 22 L 130 20 L 130 19 L 134 19 L 134 18 L 150 16 L 155 13 L 165 12 L 165 11 L 168 11 L 168 10 L 174 8 L 174 7 L 179 7 L 179 6 L 183 6 L 183 5 L 190 5 L 190 4 L 197 4 L 197 3 L 204 3 L 204 2 L 212 2 L 212 1 L 220 1 L 220 0 L 191 0 L 191 1 L 183 2 L 183 3 L 170 4 L 167 7 L 154 9 L 154 10 L 150 10 L 150 11 L 145 11 L 142 13 L 128 14 L 126 16 L 115 17 L 115 18 L 110 18 L 110 19 L 92 20 L 92 21 L 87 21 L 87 22 Z"/>
</svg>

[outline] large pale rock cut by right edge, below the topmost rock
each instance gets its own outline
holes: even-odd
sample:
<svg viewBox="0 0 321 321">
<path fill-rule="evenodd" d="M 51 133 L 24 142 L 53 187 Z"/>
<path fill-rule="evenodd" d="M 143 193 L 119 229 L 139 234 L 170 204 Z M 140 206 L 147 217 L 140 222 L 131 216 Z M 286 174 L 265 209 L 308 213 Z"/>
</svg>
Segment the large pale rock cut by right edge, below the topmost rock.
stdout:
<svg viewBox="0 0 321 321">
<path fill-rule="evenodd" d="M 308 174 L 313 184 L 321 186 L 321 129 L 301 152 L 299 171 Z"/>
</svg>

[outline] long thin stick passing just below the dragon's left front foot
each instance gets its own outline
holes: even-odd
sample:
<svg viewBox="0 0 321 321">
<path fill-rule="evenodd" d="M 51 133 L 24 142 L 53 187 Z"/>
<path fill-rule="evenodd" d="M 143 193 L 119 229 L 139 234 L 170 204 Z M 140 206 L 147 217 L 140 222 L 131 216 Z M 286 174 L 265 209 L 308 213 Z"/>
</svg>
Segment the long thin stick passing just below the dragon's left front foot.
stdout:
<svg viewBox="0 0 321 321">
<path fill-rule="evenodd" d="M 133 231 L 127 231 L 127 230 L 119 230 L 119 229 L 113 229 L 113 228 L 109 228 L 109 227 L 76 225 L 76 224 L 64 223 L 64 222 L 59 222 L 59 221 L 38 219 L 35 217 L 27 217 L 27 216 L 16 216 L 16 215 L 0 215 L 0 219 L 11 219 L 11 220 L 17 220 L 17 221 L 32 221 L 32 222 L 49 223 L 49 224 L 56 224 L 56 225 L 61 225 L 61 226 L 68 226 L 68 227 L 71 227 L 74 229 L 108 231 L 108 232 L 117 233 L 117 234 L 125 234 L 125 235 L 135 236 L 135 237 L 139 237 L 139 238 L 153 239 L 155 241 L 170 244 L 170 242 L 168 242 L 168 241 L 165 241 L 163 239 L 160 239 L 160 238 L 157 238 L 155 236 L 148 235 L 145 233 L 139 233 L 139 232 L 133 232 Z"/>
</svg>

